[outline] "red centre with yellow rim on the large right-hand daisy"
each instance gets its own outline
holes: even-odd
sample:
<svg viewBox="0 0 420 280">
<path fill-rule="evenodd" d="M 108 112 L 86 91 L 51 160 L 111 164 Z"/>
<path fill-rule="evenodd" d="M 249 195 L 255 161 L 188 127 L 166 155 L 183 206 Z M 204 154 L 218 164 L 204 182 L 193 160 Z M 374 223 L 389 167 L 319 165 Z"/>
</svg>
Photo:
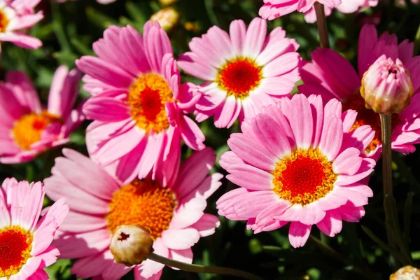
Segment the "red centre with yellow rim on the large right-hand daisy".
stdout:
<svg viewBox="0 0 420 280">
<path fill-rule="evenodd" d="M 318 148 L 298 149 L 283 157 L 272 172 L 274 192 L 293 204 L 309 204 L 325 197 L 337 179 L 329 162 Z"/>
</svg>

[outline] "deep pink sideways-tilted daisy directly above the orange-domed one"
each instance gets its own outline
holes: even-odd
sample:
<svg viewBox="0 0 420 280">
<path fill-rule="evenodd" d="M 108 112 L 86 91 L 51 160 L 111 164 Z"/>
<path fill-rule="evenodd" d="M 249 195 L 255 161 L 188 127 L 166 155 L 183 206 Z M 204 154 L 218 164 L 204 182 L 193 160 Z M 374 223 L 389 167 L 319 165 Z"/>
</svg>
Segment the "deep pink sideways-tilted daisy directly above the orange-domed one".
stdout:
<svg viewBox="0 0 420 280">
<path fill-rule="evenodd" d="M 130 25 L 112 26 L 93 50 L 98 57 L 76 61 L 93 95 L 83 106 L 94 120 L 86 135 L 91 158 L 103 166 L 115 163 L 126 182 L 151 170 L 155 176 L 158 169 L 166 179 L 179 162 L 181 139 L 194 150 L 204 148 L 204 134 L 186 116 L 200 94 L 180 86 L 167 34 L 158 22 L 147 22 L 144 36 Z"/>
</svg>

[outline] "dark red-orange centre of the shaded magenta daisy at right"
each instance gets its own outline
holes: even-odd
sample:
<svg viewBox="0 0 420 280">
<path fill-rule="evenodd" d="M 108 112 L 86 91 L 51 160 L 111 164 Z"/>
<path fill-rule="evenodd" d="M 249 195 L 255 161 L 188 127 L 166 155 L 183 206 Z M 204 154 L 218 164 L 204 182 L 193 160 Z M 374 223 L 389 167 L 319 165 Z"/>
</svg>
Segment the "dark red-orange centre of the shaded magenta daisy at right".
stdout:
<svg viewBox="0 0 420 280">
<path fill-rule="evenodd" d="M 374 139 L 370 142 L 369 146 L 365 149 L 366 153 L 374 151 L 379 144 L 382 143 L 381 137 L 381 119 L 379 118 L 379 113 L 375 113 L 372 109 L 367 109 L 365 106 L 365 99 L 360 95 L 359 92 L 351 94 L 349 97 L 344 99 L 343 103 L 343 112 L 349 109 L 357 111 L 357 118 L 354 122 L 353 127 L 350 131 L 356 130 L 356 128 L 362 125 L 370 125 L 372 130 L 374 130 Z M 393 114 L 391 118 L 392 128 L 395 125 L 398 125 L 399 118 L 398 114 Z"/>
</svg>

